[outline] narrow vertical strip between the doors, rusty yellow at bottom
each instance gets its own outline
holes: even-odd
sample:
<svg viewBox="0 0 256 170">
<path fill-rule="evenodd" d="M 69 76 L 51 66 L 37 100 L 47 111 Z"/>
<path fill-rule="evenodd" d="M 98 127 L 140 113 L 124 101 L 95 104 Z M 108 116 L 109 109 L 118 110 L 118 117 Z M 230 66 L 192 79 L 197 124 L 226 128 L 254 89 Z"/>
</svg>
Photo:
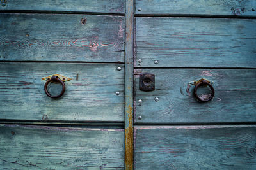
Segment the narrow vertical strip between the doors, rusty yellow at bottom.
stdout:
<svg viewBox="0 0 256 170">
<path fill-rule="evenodd" d="M 125 169 L 133 169 L 133 6 L 125 1 Z"/>
</svg>

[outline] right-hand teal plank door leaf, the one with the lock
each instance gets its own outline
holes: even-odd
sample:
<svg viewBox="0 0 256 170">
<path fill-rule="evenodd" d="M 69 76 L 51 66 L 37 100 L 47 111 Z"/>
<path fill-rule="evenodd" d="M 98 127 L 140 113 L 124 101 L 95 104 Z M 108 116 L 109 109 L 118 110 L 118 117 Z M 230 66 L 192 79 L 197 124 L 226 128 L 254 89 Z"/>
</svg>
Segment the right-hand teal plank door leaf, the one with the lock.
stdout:
<svg viewBox="0 0 256 170">
<path fill-rule="evenodd" d="M 255 9 L 135 1 L 134 169 L 256 169 Z M 141 73 L 155 90 L 140 90 Z"/>
</svg>

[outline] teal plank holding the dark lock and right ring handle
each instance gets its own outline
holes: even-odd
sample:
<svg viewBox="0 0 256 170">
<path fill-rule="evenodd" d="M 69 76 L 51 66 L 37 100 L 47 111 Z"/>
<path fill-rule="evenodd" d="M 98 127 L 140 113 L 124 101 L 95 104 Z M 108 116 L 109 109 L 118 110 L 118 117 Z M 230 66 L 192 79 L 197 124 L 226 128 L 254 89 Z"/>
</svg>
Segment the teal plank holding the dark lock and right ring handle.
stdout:
<svg viewBox="0 0 256 170">
<path fill-rule="evenodd" d="M 137 123 L 256 122 L 255 69 L 135 69 L 134 73 Z M 139 90 L 140 73 L 155 74 L 156 90 Z M 215 89 L 214 99 L 206 103 L 193 96 L 191 83 L 201 78 Z M 198 94 L 207 98 L 211 90 L 200 87 Z"/>
</svg>

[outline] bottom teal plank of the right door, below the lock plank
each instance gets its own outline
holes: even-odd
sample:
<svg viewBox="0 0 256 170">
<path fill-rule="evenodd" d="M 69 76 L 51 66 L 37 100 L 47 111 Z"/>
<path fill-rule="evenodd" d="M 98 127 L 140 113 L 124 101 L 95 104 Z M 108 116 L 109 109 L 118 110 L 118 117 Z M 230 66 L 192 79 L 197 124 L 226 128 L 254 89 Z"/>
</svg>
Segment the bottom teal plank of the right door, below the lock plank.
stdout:
<svg viewBox="0 0 256 170">
<path fill-rule="evenodd" d="M 256 169 L 256 126 L 134 127 L 134 169 Z"/>
</svg>

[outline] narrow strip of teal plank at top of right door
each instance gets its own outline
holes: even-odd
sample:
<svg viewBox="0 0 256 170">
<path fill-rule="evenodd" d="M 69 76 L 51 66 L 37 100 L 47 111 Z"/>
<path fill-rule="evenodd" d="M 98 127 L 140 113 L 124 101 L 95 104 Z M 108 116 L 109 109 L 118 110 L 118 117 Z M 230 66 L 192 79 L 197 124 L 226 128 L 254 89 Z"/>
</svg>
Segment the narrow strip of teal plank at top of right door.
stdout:
<svg viewBox="0 0 256 170">
<path fill-rule="evenodd" d="M 137 0 L 136 14 L 182 14 L 182 15 L 256 15 L 253 0 Z"/>
</svg>

